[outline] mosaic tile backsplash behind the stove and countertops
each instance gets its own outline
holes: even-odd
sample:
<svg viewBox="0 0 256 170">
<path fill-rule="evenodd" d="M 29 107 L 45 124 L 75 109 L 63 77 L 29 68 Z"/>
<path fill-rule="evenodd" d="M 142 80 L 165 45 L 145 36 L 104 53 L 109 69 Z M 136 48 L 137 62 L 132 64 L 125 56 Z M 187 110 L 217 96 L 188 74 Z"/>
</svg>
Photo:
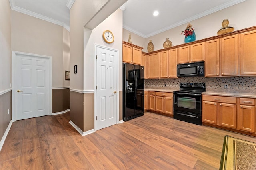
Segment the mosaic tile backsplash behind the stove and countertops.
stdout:
<svg viewBox="0 0 256 170">
<path fill-rule="evenodd" d="M 178 79 L 146 79 L 145 87 L 154 89 L 179 89 L 181 82 L 205 82 L 206 91 L 256 93 L 256 77 L 181 77 Z M 225 84 L 228 84 L 228 89 L 224 89 Z"/>
</svg>

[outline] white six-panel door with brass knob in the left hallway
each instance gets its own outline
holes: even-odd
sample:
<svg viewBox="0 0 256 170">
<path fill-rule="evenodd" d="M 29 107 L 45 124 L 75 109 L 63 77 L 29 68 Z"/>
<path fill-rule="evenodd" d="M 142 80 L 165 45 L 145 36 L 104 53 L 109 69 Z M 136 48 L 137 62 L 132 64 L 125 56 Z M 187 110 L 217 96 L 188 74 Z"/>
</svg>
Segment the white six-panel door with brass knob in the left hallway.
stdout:
<svg viewBox="0 0 256 170">
<path fill-rule="evenodd" d="M 14 121 L 51 113 L 49 57 L 13 52 Z"/>
</svg>

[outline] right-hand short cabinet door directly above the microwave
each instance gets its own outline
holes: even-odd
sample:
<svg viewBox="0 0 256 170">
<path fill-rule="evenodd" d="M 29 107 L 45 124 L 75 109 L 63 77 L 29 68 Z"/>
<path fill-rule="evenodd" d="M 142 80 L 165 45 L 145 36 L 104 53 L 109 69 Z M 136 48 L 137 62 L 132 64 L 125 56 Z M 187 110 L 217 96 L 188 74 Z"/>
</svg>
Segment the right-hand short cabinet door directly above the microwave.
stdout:
<svg viewBox="0 0 256 170">
<path fill-rule="evenodd" d="M 204 61 L 204 42 L 190 45 L 190 62 Z"/>
</svg>

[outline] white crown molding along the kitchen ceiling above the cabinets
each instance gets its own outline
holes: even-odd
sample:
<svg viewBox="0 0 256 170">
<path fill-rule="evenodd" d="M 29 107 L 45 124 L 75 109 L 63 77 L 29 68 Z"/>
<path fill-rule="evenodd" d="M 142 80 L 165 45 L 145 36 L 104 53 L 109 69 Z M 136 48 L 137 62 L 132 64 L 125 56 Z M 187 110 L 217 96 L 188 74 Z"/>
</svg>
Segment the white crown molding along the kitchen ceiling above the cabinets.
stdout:
<svg viewBox="0 0 256 170">
<path fill-rule="evenodd" d="M 232 0 L 232 1 L 230 1 L 230 2 L 227 2 L 227 3 L 225 3 L 225 4 L 222 4 L 222 5 L 217 6 L 217 7 L 215 7 L 215 8 L 212 8 L 212 9 L 210 9 L 210 10 L 207 10 L 207 11 L 205 11 L 205 12 L 202 12 L 202 13 L 200 13 L 200 14 L 197 14 L 197 15 L 195 15 L 195 16 L 189 17 L 189 18 L 187 18 L 187 19 L 185 19 L 185 20 L 182 20 L 182 21 L 180 21 L 180 22 L 176 22 L 176 23 L 174 23 L 174 24 L 172 24 L 172 25 L 170 25 L 170 26 L 167 26 L 167 27 L 165 27 L 165 28 L 162 28 L 162 29 L 160 29 L 160 30 L 156 30 L 155 32 L 152 32 L 152 33 L 150 33 L 150 34 L 142 34 L 141 32 L 138 32 L 137 30 L 134 30 L 134 29 L 132 29 L 132 28 L 126 26 L 126 25 L 123 25 L 123 28 L 126 29 L 126 30 L 128 30 L 128 31 L 130 31 L 130 32 L 133 32 L 134 34 L 137 34 L 138 36 L 141 36 L 142 38 L 148 38 L 148 37 L 154 36 L 154 35 L 156 35 L 156 34 L 159 34 L 159 33 L 161 33 L 161 32 L 164 32 L 164 31 L 170 30 L 170 29 L 172 29 L 172 28 L 175 28 L 175 27 L 177 27 L 177 26 L 180 26 L 180 25 L 182 25 L 182 24 L 186 24 L 186 23 L 188 23 L 188 22 L 191 22 L 191 21 L 196 20 L 196 19 L 198 19 L 198 18 L 201 18 L 201 17 L 203 17 L 203 16 L 212 14 L 212 13 L 217 12 L 217 11 L 219 11 L 219 10 L 223 10 L 223 9 L 228 8 L 228 7 L 230 7 L 230 6 L 239 4 L 240 2 L 244 2 L 244 1 L 246 1 L 246 0 Z"/>
</svg>

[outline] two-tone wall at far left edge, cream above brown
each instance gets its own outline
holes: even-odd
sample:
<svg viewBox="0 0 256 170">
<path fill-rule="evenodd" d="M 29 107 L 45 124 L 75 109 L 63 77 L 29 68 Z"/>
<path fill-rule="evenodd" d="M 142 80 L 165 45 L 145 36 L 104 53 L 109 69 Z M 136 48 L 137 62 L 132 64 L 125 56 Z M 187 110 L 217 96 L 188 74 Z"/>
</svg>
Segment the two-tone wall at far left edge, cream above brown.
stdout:
<svg viewBox="0 0 256 170">
<path fill-rule="evenodd" d="M 0 140 L 4 135 L 12 115 L 11 83 L 11 8 L 9 1 L 0 1 Z M 9 115 L 8 115 L 9 109 Z"/>
</svg>

